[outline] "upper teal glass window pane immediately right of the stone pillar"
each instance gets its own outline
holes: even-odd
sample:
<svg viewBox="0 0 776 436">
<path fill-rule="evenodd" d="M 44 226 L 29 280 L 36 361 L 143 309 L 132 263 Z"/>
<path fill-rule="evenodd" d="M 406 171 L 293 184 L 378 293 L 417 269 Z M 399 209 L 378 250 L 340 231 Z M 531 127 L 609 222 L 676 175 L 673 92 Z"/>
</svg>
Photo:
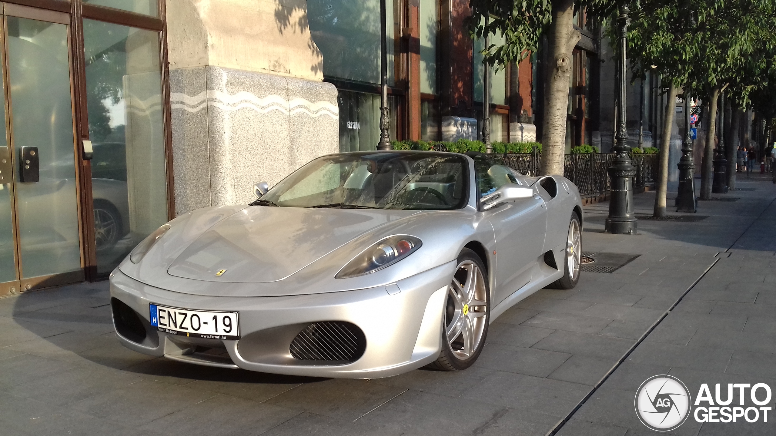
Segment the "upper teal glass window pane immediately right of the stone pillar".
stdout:
<svg viewBox="0 0 776 436">
<path fill-rule="evenodd" d="M 393 2 L 386 2 L 388 84 L 393 85 Z M 308 0 L 310 33 L 324 57 L 324 74 L 380 82 L 380 0 Z"/>
</svg>

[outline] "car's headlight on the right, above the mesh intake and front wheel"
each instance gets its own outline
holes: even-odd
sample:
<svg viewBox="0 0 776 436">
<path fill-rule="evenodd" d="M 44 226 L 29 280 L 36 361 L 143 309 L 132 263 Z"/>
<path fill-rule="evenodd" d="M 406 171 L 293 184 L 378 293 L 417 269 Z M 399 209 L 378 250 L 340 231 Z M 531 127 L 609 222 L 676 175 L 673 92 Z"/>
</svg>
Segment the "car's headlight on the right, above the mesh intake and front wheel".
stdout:
<svg viewBox="0 0 776 436">
<path fill-rule="evenodd" d="M 406 258 L 422 244 L 420 239 L 409 235 L 386 237 L 349 261 L 334 278 L 348 279 L 379 271 Z"/>
</svg>

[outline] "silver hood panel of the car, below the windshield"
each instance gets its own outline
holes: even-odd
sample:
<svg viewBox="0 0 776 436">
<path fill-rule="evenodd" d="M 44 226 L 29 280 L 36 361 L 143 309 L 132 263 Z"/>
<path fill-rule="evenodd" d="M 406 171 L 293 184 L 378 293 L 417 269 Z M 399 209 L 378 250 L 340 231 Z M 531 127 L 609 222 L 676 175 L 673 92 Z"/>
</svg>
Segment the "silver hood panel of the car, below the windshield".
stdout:
<svg viewBox="0 0 776 436">
<path fill-rule="evenodd" d="M 212 282 L 276 282 L 360 234 L 414 213 L 248 207 L 197 237 L 171 263 L 168 274 Z"/>
</svg>

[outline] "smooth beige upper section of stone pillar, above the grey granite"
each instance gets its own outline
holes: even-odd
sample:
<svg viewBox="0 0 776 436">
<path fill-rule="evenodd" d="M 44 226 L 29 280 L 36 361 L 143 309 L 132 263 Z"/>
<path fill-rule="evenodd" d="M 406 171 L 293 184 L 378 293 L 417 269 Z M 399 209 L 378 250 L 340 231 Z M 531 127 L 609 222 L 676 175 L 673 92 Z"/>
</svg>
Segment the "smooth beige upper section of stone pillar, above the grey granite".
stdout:
<svg viewBox="0 0 776 436">
<path fill-rule="evenodd" d="M 206 65 L 323 80 L 305 0 L 167 0 L 170 69 Z"/>
</svg>

